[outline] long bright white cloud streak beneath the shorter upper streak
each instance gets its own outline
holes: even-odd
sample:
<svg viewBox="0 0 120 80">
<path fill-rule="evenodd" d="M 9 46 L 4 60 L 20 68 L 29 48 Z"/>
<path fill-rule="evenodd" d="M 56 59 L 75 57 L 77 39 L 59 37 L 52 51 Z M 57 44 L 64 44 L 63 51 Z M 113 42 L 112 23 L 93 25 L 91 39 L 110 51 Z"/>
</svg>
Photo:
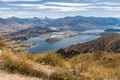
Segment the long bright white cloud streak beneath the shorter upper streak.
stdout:
<svg viewBox="0 0 120 80">
<path fill-rule="evenodd" d="M 71 3 L 70 3 L 71 4 Z M 23 9 L 50 9 L 51 11 L 82 11 L 82 10 L 88 10 L 87 8 L 90 8 L 88 6 L 76 6 L 76 4 L 73 4 L 72 6 L 57 6 L 57 5 L 47 5 L 45 4 L 8 4 L 11 6 L 21 6 Z M 91 6 L 92 7 L 92 6 Z"/>
</svg>

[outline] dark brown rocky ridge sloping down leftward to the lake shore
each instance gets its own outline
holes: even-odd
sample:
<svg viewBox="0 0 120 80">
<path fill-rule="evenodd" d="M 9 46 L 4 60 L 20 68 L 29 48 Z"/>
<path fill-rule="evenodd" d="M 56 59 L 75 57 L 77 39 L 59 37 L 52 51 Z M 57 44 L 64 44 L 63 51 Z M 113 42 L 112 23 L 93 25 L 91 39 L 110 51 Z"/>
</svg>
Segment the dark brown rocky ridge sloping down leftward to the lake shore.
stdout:
<svg viewBox="0 0 120 80">
<path fill-rule="evenodd" d="M 107 34 L 101 38 L 83 44 L 72 45 L 57 52 L 64 57 L 94 51 L 120 52 L 120 34 Z"/>
</svg>

